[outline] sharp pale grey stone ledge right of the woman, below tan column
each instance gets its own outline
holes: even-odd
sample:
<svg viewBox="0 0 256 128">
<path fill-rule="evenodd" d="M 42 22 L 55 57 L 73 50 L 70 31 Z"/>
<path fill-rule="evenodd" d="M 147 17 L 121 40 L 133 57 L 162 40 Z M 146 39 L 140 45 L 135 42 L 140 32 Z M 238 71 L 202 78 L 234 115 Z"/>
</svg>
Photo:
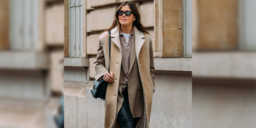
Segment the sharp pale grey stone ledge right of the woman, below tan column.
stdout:
<svg viewBox="0 0 256 128">
<path fill-rule="evenodd" d="M 154 58 L 155 70 L 192 71 L 192 58 Z"/>
</svg>

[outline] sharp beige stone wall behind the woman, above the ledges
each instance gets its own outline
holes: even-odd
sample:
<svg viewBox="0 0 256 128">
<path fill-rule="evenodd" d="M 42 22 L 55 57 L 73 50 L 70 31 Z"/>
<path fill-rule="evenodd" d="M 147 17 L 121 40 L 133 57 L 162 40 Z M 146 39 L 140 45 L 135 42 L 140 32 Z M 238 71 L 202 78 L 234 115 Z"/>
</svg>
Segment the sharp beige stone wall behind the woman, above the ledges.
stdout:
<svg viewBox="0 0 256 128">
<path fill-rule="evenodd" d="M 108 29 L 118 6 L 124 1 L 84 1 L 83 57 L 95 58 L 99 33 Z M 152 36 L 155 57 L 183 57 L 183 1 L 135 0 L 141 23 Z M 68 0 L 65 0 L 64 53 L 68 57 Z"/>
</svg>

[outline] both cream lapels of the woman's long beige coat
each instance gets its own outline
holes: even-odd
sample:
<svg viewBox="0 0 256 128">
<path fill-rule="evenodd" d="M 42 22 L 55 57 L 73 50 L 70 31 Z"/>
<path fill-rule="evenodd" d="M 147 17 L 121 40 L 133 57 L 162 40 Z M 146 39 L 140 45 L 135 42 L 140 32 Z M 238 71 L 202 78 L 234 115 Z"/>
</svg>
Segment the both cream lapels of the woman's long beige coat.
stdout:
<svg viewBox="0 0 256 128">
<path fill-rule="evenodd" d="M 119 28 L 117 26 L 111 29 L 111 37 L 113 37 L 111 40 L 114 42 L 115 45 L 117 45 L 117 47 L 121 51 L 121 44 L 120 44 L 120 37 L 119 37 L 118 30 Z M 141 51 L 141 47 L 145 41 L 145 39 L 142 39 L 142 38 L 144 38 L 145 36 L 140 30 L 137 29 L 136 26 L 133 26 L 133 30 L 134 30 L 134 38 L 135 38 L 135 53 L 138 59 Z"/>
</svg>

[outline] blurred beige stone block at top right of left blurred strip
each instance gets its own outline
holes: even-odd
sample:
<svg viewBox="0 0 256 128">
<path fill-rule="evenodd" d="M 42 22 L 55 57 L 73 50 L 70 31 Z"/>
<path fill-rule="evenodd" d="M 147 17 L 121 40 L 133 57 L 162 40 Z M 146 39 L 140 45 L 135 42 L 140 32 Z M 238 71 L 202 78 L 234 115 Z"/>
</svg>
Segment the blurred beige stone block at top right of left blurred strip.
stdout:
<svg viewBox="0 0 256 128">
<path fill-rule="evenodd" d="M 45 10 L 45 38 L 47 45 L 63 45 L 64 42 L 64 3 L 53 5 Z"/>
</svg>

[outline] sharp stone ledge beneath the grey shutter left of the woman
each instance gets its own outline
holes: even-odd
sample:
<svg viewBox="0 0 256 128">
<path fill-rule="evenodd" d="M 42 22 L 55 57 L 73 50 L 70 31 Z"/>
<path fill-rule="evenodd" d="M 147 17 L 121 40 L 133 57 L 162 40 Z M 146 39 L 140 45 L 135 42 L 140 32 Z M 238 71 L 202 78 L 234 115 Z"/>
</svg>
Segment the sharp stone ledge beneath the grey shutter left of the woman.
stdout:
<svg viewBox="0 0 256 128">
<path fill-rule="evenodd" d="M 64 66 L 89 67 L 90 58 L 64 57 Z"/>
</svg>

